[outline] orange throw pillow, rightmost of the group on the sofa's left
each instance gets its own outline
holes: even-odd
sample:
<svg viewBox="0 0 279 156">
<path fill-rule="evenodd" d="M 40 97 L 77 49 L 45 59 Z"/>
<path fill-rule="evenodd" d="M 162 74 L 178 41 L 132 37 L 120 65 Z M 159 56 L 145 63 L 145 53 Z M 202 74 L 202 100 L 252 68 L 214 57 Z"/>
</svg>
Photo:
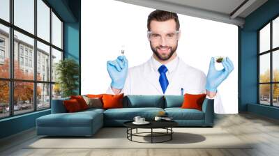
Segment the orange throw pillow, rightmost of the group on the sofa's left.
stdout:
<svg viewBox="0 0 279 156">
<path fill-rule="evenodd" d="M 104 94 L 103 109 L 114 109 L 123 107 L 123 93 L 119 95 Z"/>
</svg>

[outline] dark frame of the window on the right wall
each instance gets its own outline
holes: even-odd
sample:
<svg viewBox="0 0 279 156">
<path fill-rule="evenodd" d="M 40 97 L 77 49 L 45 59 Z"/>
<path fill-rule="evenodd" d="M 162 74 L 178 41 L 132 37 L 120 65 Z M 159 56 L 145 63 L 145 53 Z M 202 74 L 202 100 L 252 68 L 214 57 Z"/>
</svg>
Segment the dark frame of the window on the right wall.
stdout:
<svg viewBox="0 0 279 156">
<path fill-rule="evenodd" d="M 271 20 L 269 20 L 269 22 L 267 22 L 266 24 L 264 24 L 262 27 L 260 27 L 257 30 L 257 104 L 278 108 L 279 106 L 273 105 L 273 84 L 279 84 L 279 81 L 273 81 L 273 53 L 279 50 L 279 47 L 273 48 L 273 20 L 276 20 L 276 18 L 279 18 L 279 15 L 276 15 L 275 17 L 273 17 Z M 264 27 L 267 26 L 268 24 L 270 24 L 269 50 L 266 50 L 265 52 L 261 53 L 260 52 L 260 45 L 261 45 L 260 44 L 260 31 L 262 29 L 264 29 Z M 269 64 L 269 68 L 270 68 L 269 82 L 260 82 L 260 63 L 261 63 L 260 56 L 262 56 L 264 54 L 269 54 L 269 63 L 270 63 Z M 260 87 L 259 87 L 261 84 L 269 84 L 269 94 L 270 94 L 269 105 L 261 103 L 261 100 L 260 100 L 261 93 L 260 93 Z"/>
</svg>

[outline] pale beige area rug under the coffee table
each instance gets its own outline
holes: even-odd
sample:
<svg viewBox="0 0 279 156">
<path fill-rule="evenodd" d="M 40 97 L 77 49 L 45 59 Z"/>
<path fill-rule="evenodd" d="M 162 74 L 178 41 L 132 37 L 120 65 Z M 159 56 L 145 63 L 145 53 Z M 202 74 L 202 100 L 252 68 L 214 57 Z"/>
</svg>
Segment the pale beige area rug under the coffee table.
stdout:
<svg viewBox="0 0 279 156">
<path fill-rule="evenodd" d="M 173 130 L 172 140 L 165 143 L 148 143 L 151 141 L 151 137 L 133 137 L 135 141 L 147 143 L 129 141 L 126 136 L 126 128 L 104 127 L 93 137 L 38 137 L 25 148 L 251 148 L 249 143 L 241 141 L 221 128 L 178 127 Z M 161 131 L 163 130 L 156 132 Z M 138 132 L 150 132 L 150 130 L 140 129 Z M 155 141 L 163 141 L 163 139 L 167 138 L 156 137 Z"/>
</svg>

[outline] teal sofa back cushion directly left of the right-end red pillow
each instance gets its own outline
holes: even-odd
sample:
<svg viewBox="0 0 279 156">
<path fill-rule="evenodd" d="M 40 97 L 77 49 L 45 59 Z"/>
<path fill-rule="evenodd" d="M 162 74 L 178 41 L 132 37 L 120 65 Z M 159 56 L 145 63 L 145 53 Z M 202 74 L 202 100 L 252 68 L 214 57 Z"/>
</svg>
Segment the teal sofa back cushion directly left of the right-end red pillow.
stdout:
<svg viewBox="0 0 279 156">
<path fill-rule="evenodd" d="M 183 100 L 183 95 L 165 95 L 165 108 L 181 107 Z"/>
</svg>

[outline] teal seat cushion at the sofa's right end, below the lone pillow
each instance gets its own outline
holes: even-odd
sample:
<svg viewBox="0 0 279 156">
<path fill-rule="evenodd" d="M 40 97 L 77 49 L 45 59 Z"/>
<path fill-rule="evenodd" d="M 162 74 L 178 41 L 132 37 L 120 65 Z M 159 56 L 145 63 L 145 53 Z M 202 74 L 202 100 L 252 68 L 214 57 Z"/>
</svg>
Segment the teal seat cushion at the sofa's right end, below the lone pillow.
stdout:
<svg viewBox="0 0 279 156">
<path fill-rule="evenodd" d="M 204 112 L 197 109 L 167 108 L 165 111 L 174 120 L 204 120 Z"/>
</svg>

